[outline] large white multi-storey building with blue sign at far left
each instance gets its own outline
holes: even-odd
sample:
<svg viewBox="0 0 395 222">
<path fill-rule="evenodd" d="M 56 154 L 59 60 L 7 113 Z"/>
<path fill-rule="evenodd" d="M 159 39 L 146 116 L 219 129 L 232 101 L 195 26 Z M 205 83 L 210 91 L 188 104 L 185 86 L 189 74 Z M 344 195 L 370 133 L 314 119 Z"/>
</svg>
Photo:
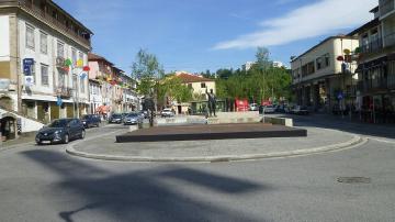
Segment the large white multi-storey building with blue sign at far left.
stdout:
<svg viewBox="0 0 395 222">
<path fill-rule="evenodd" d="M 0 107 L 43 122 L 86 113 L 92 34 L 52 0 L 0 1 Z"/>
</svg>

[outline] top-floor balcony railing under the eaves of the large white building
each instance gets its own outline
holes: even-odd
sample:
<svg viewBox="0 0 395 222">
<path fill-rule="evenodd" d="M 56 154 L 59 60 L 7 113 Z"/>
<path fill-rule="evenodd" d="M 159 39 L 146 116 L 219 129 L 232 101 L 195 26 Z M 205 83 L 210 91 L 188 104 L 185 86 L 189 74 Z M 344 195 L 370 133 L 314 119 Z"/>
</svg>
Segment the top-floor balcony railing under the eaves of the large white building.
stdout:
<svg viewBox="0 0 395 222">
<path fill-rule="evenodd" d="M 74 30 L 71 30 L 70 27 L 66 26 L 65 23 L 61 23 L 60 21 L 58 21 L 57 19 L 53 18 L 50 14 L 48 14 L 47 12 L 45 12 L 43 9 L 32 4 L 30 1 L 26 0 L 19 0 L 19 4 L 20 7 L 25 10 L 26 12 L 40 18 L 41 21 L 46 21 L 49 24 L 54 25 L 55 27 L 57 27 L 60 32 L 66 33 L 66 35 L 68 35 L 70 38 L 80 41 L 82 44 L 84 44 L 86 46 L 90 47 L 90 40 L 87 40 L 86 37 L 79 35 L 78 33 L 76 33 Z M 88 33 L 87 33 L 88 34 Z"/>
</svg>

